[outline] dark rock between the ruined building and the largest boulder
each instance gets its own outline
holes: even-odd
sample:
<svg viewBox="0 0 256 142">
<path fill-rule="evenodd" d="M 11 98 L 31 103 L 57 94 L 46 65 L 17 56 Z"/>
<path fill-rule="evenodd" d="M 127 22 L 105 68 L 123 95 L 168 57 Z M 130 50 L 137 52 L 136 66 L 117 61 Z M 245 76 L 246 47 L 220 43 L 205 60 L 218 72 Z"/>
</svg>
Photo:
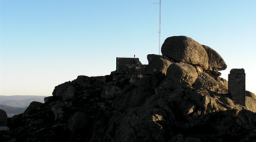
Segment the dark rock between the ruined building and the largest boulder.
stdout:
<svg viewBox="0 0 256 142">
<path fill-rule="evenodd" d="M 166 76 L 171 60 L 161 55 L 148 55 L 148 66 L 144 69 L 145 75 Z"/>
</svg>

